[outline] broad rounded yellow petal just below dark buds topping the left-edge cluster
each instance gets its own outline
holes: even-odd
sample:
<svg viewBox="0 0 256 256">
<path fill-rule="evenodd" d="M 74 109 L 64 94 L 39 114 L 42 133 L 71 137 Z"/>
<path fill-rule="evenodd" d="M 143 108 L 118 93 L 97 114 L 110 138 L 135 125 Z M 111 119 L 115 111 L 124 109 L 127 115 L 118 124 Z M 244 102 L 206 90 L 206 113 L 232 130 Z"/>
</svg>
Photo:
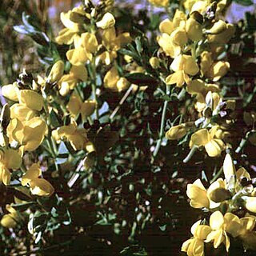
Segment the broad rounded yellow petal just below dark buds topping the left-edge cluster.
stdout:
<svg viewBox="0 0 256 256">
<path fill-rule="evenodd" d="M 36 93 L 33 90 L 20 90 L 18 100 L 20 104 L 29 107 L 31 110 L 42 110 L 42 95 Z"/>
</svg>

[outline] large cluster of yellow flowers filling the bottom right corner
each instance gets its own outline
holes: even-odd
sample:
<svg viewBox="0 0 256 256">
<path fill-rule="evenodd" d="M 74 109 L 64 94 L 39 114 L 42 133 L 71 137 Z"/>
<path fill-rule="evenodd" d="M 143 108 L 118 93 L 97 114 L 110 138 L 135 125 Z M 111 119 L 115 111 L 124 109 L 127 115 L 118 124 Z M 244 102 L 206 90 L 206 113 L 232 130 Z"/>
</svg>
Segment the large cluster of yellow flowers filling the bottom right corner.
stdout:
<svg viewBox="0 0 256 256">
<path fill-rule="evenodd" d="M 214 242 L 214 248 L 223 243 L 228 252 L 230 237 L 241 239 L 245 250 L 255 248 L 254 180 L 243 167 L 235 170 L 230 154 L 226 154 L 223 172 L 225 179 L 218 178 L 207 190 L 200 179 L 187 186 L 190 206 L 210 213 L 209 220 L 199 220 L 192 226 L 194 238 L 183 243 L 182 251 L 188 255 L 203 255 L 204 242 Z M 209 226 L 205 225 L 206 222 Z"/>
</svg>

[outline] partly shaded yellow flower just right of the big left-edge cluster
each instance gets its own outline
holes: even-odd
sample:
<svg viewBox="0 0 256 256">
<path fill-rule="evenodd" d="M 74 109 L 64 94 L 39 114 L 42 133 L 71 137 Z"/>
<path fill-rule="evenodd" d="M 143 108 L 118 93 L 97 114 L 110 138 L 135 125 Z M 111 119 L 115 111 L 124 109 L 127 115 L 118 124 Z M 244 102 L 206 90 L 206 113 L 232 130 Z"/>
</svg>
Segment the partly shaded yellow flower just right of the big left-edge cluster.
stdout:
<svg viewBox="0 0 256 256">
<path fill-rule="evenodd" d="M 90 143 L 87 138 L 85 129 L 78 129 L 77 123 L 71 119 L 70 125 L 61 126 L 52 132 L 53 138 L 56 142 L 67 140 L 70 142 L 74 150 L 85 150 Z"/>
</svg>

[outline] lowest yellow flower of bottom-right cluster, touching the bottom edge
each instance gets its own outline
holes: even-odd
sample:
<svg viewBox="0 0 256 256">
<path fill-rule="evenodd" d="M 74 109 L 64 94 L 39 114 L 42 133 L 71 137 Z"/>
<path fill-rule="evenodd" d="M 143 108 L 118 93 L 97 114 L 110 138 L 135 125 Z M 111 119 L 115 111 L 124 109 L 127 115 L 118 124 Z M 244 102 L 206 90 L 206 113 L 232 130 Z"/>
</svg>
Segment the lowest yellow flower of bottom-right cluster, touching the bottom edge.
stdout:
<svg viewBox="0 0 256 256">
<path fill-rule="evenodd" d="M 193 238 L 190 238 L 182 244 L 182 251 L 189 256 L 203 256 L 204 255 L 204 240 L 210 234 L 210 226 L 200 225 L 200 220 L 195 222 L 191 227 Z"/>
</svg>

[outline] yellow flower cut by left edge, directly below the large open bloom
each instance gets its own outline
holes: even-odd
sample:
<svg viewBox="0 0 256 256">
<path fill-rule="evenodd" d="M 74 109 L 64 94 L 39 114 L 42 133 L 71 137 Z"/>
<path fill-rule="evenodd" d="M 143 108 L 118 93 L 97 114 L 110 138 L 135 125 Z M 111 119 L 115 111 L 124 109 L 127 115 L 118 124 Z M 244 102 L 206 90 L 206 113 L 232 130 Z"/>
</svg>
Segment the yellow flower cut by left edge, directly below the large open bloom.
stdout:
<svg viewBox="0 0 256 256">
<path fill-rule="evenodd" d="M 0 151 L 0 182 L 10 184 L 10 169 L 18 169 L 22 164 L 22 157 L 18 151 L 7 149 Z"/>
</svg>

